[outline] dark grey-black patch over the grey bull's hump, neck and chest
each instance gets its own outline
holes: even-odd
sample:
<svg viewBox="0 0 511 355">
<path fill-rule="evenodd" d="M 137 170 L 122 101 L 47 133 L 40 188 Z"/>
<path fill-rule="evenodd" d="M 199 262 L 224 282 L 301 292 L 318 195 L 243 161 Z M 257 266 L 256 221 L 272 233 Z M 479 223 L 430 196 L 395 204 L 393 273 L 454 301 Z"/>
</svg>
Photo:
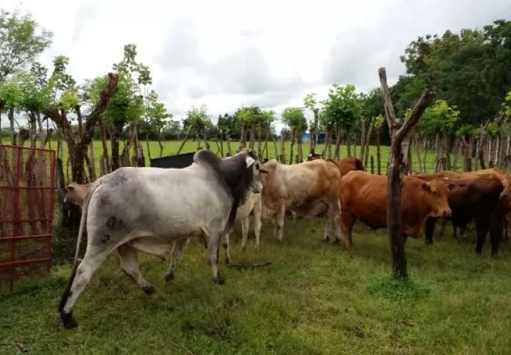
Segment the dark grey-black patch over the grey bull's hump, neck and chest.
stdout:
<svg viewBox="0 0 511 355">
<path fill-rule="evenodd" d="M 229 212 L 229 219 L 224 229 L 229 231 L 232 229 L 236 219 L 236 212 L 238 206 L 246 202 L 248 195 L 248 188 L 253 180 L 252 167 L 246 167 L 246 157 L 250 156 L 255 160 L 254 163 L 259 162 L 259 158 L 253 151 L 241 151 L 231 158 L 219 158 L 215 153 L 202 149 L 194 154 L 194 163 L 204 164 L 209 166 L 216 175 L 216 180 L 220 183 L 224 190 L 230 193 L 233 197 L 233 204 L 231 212 Z"/>
</svg>

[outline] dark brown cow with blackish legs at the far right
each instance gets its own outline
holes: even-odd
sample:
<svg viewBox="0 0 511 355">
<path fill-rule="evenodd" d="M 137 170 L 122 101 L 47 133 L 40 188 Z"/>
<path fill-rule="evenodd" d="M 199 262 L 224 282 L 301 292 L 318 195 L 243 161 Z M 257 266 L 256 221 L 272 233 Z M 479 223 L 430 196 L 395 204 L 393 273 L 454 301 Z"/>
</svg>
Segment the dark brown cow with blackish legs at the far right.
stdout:
<svg viewBox="0 0 511 355">
<path fill-rule="evenodd" d="M 461 238 L 471 220 L 476 220 L 476 253 L 480 255 L 488 231 L 491 239 L 491 253 L 497 255 L 498 242 L 502 239 L 502 207 L 499 197 L 504 185 L 495 176 L 480 176 L 456 180 L 444 179 L 449 189 L 448 201 L 451 207 L 453 227 L 459 227 Z M 427 221 L 425 229 L 426 243 L 433 243 L 436 218 Z M 455 232 L 456 236 L 456 232 Z"/>
</svg>

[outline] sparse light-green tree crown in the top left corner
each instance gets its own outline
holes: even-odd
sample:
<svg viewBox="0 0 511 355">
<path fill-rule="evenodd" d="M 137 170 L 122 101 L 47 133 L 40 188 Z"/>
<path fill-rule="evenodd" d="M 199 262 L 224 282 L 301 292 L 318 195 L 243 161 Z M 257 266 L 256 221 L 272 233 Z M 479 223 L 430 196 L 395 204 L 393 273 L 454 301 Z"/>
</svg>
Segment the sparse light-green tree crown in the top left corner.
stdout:
<svg viewBox="0 0 511 355">
<path fill-rule="evenodd" d="M 26 69 L 52 43 L 53 33 L 40 28 L 30 13 L 0 9 L 0 83 Z"/>
</svg>

